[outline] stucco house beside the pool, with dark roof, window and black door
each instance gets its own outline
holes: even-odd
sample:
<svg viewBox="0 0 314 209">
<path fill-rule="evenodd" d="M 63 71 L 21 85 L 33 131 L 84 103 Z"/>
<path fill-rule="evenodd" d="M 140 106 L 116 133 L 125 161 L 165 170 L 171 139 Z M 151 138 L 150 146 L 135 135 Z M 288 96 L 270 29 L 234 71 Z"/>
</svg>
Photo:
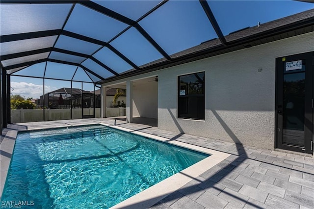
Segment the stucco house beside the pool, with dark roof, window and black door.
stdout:
<svg viewBox="0 0 314 209">
<path fill-rule="evenodd" d="M 313 154 L 313 14 L 204 42 L 102 87 L 126 85 L 128 122 L 157 118 L 161 130 Z"/>
</svg>

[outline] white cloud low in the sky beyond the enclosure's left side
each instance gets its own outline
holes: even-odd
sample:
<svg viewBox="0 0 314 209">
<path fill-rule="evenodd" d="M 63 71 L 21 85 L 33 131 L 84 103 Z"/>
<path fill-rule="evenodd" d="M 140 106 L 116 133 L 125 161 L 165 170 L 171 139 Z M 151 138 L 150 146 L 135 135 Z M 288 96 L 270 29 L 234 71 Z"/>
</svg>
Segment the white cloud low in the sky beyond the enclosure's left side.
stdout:
<svg viewBox="0 0 314 209">
<path fill-rule="evenodd" d="M 20 94 L 25 98 L 32 97 L 32 98 L 39 98 L 43 95 L 43 85 L 37 85 L 33 83 L 26 83 L 26 82 L 11 82 L 11 95 Z M 45 85 L 45 92 L 51 92 L 56 90 L 57 88 L 46 86 Z"/>
</svg>

